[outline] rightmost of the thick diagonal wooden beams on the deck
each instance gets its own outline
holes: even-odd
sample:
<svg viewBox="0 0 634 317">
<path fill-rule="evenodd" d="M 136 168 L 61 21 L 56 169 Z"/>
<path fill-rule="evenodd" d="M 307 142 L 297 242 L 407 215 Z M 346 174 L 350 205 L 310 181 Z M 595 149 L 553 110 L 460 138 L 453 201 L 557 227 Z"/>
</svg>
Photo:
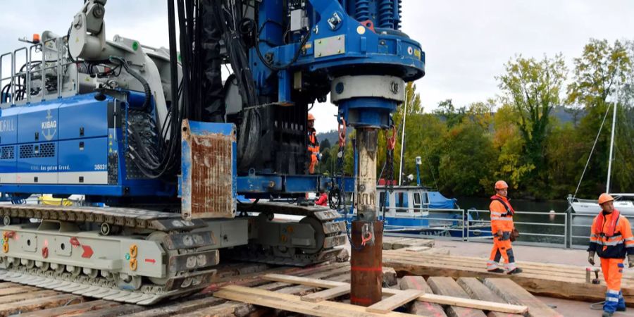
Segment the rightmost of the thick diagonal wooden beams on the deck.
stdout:
<svg viewBox="0 0 634 317">
<path fill-rule="evenodd" d="M 528 314 L 533 317 L 562 317 L 548 305 L 524 290 L 516 282 L 507 278 L 487 278 L 485 285 L 502 297 L 506 302 L 528 306 Z"/>
</svg>

